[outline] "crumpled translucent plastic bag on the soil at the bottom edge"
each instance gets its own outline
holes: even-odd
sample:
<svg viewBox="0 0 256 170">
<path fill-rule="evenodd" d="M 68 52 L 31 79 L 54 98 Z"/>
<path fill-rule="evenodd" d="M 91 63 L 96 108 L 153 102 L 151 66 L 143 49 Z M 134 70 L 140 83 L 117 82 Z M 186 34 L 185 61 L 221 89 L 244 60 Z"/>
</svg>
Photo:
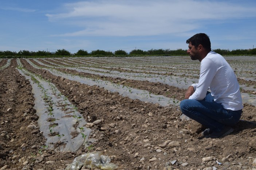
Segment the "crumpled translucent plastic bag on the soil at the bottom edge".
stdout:
<svg viewBox="0 0 256 170">
<path fill-rule="evenodd" d="M 117 165 L 110 163 L 108 156 L 103 156 L 100 152 L 82 154 L 66 167 L 65 170 L 79 170 L 82 166 L 91 169 L 115 170 Z"/>
</svg>

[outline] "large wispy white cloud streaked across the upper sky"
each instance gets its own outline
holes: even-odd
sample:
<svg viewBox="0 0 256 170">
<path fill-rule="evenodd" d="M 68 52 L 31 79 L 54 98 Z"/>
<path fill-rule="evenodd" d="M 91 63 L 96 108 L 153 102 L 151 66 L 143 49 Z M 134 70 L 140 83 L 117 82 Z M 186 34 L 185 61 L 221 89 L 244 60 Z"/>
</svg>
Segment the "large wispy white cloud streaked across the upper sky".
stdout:
<svg viewBox="0 0 256 170">
<path fill-rule="evenodd" d="M 55 36 L 184 33 L 200 28 L 204 21 L 256 16 L 255 7 L 199 0 L 94 0 L 65 4 L 63 11 L 46 16 L 52 22 L 62 21 L 84 29 Z"/>
</svg>

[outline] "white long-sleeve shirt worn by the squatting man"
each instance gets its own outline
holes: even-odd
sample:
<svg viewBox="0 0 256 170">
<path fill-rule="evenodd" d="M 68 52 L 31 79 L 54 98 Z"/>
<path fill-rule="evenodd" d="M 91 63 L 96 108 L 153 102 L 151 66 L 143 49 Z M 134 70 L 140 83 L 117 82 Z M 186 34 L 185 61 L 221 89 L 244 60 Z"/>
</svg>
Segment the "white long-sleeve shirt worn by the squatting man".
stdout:
<svg viewBox="0 0 256 170">
<path fill-rule="evenodd" d="M 202 100 L 210 89 L 214 101 L 225 109 L 243 109 L 242 97 L 236 75 L 220 54 L 210 51 L 200 64 L 198 83 L 192 84 L 194 93 L 189 99 Z"/>
</svg>

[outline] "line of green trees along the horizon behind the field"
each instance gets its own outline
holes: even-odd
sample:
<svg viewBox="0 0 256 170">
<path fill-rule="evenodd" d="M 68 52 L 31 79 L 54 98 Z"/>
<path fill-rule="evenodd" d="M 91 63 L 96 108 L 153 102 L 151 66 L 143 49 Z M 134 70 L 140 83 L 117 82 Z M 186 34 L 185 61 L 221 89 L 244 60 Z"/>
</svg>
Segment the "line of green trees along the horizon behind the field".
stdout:
<svg viewBox="0 0 256 170">
<path fill-rule="evenodd" d="M 0 51 L 0 58 L 29 58 L 29 57 L 136 57 L 136 56 L 186 56 L 187 50 L 177 49 L 151 49 L 141 50 L 135 49 L 127 53 L 124 50 L 104 51 L 104 50 L 93 50 L 90 53 L 87 50 L 78 50 L 76 53 L 71 54 L 68 50 L 62 49 L 55 52 L 49 51 L 28 51 L 20 50 L 15 51 Z M 214 49 L 216 53 L 221 55 L 256 55 L 256 49 L 237 49 L 237 50 L 226 50 L 226 49 Z"/>
</svg>

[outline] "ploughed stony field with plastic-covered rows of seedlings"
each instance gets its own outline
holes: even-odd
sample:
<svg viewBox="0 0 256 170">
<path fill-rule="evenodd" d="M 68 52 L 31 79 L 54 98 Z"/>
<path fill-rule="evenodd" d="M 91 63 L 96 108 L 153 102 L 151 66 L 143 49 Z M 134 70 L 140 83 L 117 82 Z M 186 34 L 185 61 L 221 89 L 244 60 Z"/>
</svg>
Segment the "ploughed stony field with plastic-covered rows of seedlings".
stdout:
<svg viewBox="0 0 256 170">
<path fill-rule="evenodd" d="M 64 170 L 99 152 L 120 170 L 255 170 L 256 57 L 225 58 L 244 109 L 220 139 L 182 117 L 199 78 L 189 57 L 0 59 L 0 169 Z"/>
</svg>

